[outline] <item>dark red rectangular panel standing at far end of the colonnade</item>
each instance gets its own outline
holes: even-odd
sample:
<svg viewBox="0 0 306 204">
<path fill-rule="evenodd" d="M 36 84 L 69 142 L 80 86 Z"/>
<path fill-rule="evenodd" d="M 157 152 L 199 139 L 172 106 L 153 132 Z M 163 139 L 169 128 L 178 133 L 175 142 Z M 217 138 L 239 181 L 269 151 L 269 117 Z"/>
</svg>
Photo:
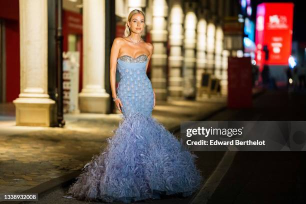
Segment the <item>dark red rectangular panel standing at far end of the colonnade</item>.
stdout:
<svg viewBox="0 0 306 204">
<path fill-rule="evenodd" d="M 227 106 L 252 106 L 252 70 L 250 57 L 228 57 Z"/>
</svg>

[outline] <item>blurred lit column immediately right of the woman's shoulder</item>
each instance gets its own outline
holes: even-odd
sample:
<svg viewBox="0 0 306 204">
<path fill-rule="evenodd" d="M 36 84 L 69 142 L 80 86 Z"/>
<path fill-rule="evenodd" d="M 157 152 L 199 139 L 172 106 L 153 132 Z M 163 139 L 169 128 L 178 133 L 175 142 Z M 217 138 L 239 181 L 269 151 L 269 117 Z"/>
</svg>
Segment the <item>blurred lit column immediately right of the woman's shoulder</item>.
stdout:
<svg viewBox="0 0 306 204">
<path fill-rule="evenodd" d="M 152 5 L 152 43 L 151 82 L 156 100 L 167 97 L 167 25 L 168 5 L 166 0 L 153 0 Z"/>
</svg>

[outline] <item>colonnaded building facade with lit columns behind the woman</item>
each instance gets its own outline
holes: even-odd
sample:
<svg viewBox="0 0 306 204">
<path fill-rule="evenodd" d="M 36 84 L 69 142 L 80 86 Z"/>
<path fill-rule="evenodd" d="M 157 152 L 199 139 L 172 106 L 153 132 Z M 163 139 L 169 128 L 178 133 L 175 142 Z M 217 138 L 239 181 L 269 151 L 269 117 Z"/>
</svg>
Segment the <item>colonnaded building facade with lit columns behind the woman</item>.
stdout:
<svg viewBox="0 0 306 204">
<path fill-rule="evenodd" d="M 154 46 L 147 74 L 156 100 L 199 98 L 204 73 L 219 79 L 219 94 L 226 94 L 227 56 L 235 55 L 228 44 L 236 42 L 223 24 L 237 17 L 237 3 L 63 0 L 63 51 L 79 56 L 77 80 L 66 80 L 64 96 L 76 90 L 70 102 L 80 112 L 112 112 L 109 52 L 114 37 L 123 36 L 132 9 L 146 14 L 142 38 Z M 14 102 L 17 125 L 56 126 L 55 10 L 50 0 L 0 0 L 0 100 Z"/>
</svg>

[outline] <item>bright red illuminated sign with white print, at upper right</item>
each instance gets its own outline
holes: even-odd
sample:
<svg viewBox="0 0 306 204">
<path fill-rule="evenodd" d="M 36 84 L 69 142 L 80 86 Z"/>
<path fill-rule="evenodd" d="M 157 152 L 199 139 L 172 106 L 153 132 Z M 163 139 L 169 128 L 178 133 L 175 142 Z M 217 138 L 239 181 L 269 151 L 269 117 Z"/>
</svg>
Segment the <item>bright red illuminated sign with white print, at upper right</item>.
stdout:
<svg viewBox="0 0 306 204">
<path fill-rule="evenodd" d="M 256 13 L 256 62 L 287 65 L 291 54 L 293 3 L 260 3 Z M 268 54 L 268 56 L 265 56 Z"/>
</svg>

